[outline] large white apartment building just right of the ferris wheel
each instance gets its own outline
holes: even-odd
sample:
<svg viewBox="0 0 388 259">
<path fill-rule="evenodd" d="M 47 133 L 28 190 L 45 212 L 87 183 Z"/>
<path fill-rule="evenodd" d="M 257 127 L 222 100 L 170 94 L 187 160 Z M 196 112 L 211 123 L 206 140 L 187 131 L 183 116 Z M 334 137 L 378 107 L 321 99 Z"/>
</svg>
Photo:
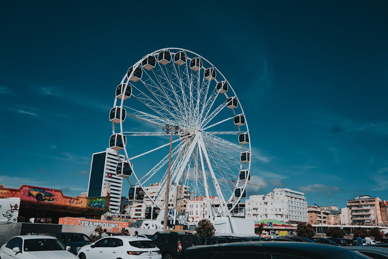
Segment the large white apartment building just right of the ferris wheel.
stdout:
<svg viewBox="0 0 388 259">
<path fill-rule="evenodd" d="M 255 221 L 276 219 L 289 224 L 308 222 L 305 194 L 275 188 L 267 195 L 251 195 L 245 200 L 245 218 Z"/>
</svg>

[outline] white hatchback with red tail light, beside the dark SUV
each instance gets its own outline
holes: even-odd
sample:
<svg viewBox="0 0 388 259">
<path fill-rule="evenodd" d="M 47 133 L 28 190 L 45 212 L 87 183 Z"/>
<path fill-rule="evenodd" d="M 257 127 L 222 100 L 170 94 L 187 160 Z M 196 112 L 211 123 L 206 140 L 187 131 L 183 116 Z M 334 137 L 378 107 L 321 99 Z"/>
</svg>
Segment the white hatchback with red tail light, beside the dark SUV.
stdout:
<svg viewBox="0 0 388 259">
<path fill-rule="evenodd" d="M 131 236 L 104 237 L 81 247 L 80 259 L 161 259 L 161 251 L 151 239 Z"/>
</svg>

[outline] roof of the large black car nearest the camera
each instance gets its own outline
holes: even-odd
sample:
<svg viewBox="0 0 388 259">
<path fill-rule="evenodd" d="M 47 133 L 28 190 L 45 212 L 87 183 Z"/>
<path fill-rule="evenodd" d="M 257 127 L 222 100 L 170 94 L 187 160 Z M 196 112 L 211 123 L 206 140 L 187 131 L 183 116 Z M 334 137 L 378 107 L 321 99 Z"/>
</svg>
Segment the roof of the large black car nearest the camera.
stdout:
<svg viewBox="0 0 388 259">
<path fill-rule="evenodd" d="M 206 249 L 207 248 L 207 249 Z M 270 249 L 289 249 L 289 250 L 301 250 L 305 252 L 314 252 L 315 254 L 329 255 L 332 253 L 343 252 L 347 249 L 345 247 L 339 247 L 334 245 L 325 245 L 319 243 L 307 243 L 307 242 L 237 242 L 237 243 L 223 243 L 217 245 L 201 245 L 195 247 L 189 247 L 185 250 L 185 254 L 197 253 L 197 256 L 204 250 L 210 251 L 236 251 L 237 249 L 243 249 L 244 251 L 260 251 L 262 248 Z M 195 257 L 195 256 L 194 256 Z"/>
</svg>

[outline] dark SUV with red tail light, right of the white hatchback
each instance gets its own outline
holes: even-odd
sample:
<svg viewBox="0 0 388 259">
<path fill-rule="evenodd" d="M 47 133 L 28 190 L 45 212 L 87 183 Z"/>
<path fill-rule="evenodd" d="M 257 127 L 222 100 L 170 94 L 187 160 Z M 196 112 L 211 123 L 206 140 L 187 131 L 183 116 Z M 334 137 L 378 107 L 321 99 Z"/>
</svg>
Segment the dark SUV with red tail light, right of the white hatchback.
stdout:
<svg viewBox="0 0 388 259">
<path fill-rule="evenodd" d="M 159 231 L 149 237 L 162 251 L 163 259 L 185 258 L 183 251 L 194 245 L 201 245 L 190 232 Z"/>
</svg>

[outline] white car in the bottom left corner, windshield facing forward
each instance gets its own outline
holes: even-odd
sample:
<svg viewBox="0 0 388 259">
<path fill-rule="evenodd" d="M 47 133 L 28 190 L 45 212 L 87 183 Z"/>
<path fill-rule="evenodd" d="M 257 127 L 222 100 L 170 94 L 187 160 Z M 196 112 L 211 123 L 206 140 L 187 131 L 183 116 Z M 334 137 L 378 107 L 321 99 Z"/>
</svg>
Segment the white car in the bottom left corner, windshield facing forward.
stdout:
<svg viewBox="0 0 388 259">
<path fill-rule="evenodd" d="M 11 238 L 0 248 L 0 259 L 76 259 L 55 237 L 26 235 Z"/>
</svg>

